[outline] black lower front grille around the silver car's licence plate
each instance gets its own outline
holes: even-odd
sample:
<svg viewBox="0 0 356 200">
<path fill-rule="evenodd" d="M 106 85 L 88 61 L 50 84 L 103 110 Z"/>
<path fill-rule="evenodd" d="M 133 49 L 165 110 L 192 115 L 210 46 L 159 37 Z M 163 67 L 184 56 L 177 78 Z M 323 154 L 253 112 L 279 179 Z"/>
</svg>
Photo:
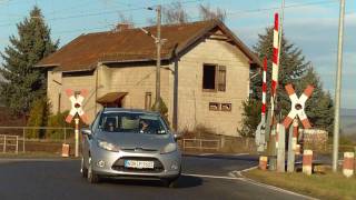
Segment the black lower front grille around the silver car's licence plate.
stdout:
<svg viewBox="0 0 356 200">
<path fill-rule="evenodd" d="M 135 168 L 125 168 L 125 160 L 139 160 L 139 161 L 154 161 L 154 169 L 135 169 Z M 149 172 L 149 173 L 159 173 L 165 170 L 164 164 L 156 158 L 142 158 L 142 157 L 123 157 L 118 159 L 111 167 L 117 171 L 125 172 Z"/>
</svg>

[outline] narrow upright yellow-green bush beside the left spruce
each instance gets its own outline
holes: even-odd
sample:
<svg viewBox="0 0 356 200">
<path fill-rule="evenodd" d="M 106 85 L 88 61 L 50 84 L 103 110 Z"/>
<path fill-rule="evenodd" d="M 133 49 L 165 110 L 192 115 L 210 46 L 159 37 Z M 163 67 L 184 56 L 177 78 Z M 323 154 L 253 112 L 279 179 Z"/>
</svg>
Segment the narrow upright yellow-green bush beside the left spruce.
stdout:
<svg viewBox="0 0 356 200">
<path fill-rule="evenodd" d="M 49 116 L 50 104 L 46 97 L 33 101 L 30 110 L 29 120 L 27 127 L 46 127 Z M 43 138 L 44 130 L 30 129 L 26 131 L 27 138 Z"/>
</svg>

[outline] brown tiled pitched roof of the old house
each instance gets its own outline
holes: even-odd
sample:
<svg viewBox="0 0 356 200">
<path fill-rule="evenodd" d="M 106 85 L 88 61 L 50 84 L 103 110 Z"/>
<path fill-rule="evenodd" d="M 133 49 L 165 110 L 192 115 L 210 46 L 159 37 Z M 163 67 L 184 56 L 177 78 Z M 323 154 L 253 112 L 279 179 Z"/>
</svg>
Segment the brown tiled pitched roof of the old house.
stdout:
<svg viewBox="0 0 356 200">
<path fill-rule="evenodd" d="M 156 36 L 156 27 L 145 29 Z M 188 47 L 212 33 L 214 30 L 221 30 L 229 37 L 229 42 L 236 44 L 251 63 L 261 66 L 257 56 L 219 20 L 162 26 L 161 38 L 167 40 L 161 48 L 161 59 L 171 59 L 175 53 L 182 53 Z M 57 52 L 42 59 L 36 67 L 56 67 L 56 70 L 59 71 L 86 71 L 93 70 L 98 62 L 155 60 L 154 39 L 139 28 L 135 28 L 81 34 Z"/>
</svg>

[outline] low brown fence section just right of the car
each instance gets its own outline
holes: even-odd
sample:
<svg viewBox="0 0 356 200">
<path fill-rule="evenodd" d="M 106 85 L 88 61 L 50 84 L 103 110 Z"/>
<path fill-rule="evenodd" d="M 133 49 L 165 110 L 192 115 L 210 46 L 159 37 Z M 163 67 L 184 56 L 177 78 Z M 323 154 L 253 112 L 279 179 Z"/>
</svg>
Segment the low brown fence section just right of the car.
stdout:
<svg viewBox="0 0 356 200">
<path fill-rule="evenodd" d="M 220 149 L 220 140 L 182 139 L 182 149 L 216 150 Z"/>
</svg>

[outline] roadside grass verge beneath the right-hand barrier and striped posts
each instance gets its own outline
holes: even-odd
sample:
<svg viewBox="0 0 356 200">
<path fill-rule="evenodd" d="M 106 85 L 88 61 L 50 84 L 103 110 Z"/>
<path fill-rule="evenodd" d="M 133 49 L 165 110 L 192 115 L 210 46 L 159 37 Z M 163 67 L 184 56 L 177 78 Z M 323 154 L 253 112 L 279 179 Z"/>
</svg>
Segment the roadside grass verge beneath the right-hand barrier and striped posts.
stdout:
<svg viewBox="0 0 356 200">
<path fill-rule="evenodd" d="M 249 179 L 320 199 L 356 199 L 356 178 L 327 171 L 306 176 L 301 172 L 280 173 L 258 169 L 243 173 Z"/>
</svg>

